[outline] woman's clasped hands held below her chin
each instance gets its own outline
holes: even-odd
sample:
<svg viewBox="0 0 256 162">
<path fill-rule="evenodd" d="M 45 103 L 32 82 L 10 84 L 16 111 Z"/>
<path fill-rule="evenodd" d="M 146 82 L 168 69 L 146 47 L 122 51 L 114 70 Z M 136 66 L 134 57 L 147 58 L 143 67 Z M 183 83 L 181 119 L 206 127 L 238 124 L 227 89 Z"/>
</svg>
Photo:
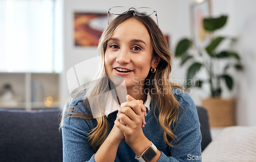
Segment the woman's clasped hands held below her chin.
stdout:
<svg viewBox="0 0 256 162">
<path fill-rule="evenodd" d="M 121 138 L 131 146 L 145 137 L 142 128 L 146 124 L 146 107 L 142 100 L 136 100 L 130 95 L 126 96 L 126 100 L 118 109 L 115 126 L 119 128 Z"/>
</svg>

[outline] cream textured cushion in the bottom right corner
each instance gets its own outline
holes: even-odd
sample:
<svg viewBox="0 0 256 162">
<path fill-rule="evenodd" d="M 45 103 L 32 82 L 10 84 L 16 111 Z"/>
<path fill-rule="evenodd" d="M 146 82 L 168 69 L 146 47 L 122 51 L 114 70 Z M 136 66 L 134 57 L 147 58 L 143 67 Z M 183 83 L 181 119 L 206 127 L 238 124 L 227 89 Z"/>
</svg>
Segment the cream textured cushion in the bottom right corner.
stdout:
<svg viewBox="0 0 256 162">
<path fill-rule="evenodd" d="M 202 152 L 204 162 L 256 161 L 256 127 L 231 126 L 220 134 Z"/>
</svg>

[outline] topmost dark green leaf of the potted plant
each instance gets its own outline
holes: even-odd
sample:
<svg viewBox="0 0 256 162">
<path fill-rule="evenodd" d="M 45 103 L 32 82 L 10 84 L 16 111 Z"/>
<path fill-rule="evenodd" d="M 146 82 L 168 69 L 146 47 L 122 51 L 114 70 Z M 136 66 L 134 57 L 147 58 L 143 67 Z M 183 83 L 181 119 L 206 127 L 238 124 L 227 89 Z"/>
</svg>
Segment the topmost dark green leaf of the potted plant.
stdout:
<svg viewBox="0 0 256 162">
<path fill-rule="evenodd" d="M 209 32 L 213 32 L 225 26 L 227 22 L 227 16 L 222 15 L 217 18 L 204 18 L 204 29 Z"/>
</svg>

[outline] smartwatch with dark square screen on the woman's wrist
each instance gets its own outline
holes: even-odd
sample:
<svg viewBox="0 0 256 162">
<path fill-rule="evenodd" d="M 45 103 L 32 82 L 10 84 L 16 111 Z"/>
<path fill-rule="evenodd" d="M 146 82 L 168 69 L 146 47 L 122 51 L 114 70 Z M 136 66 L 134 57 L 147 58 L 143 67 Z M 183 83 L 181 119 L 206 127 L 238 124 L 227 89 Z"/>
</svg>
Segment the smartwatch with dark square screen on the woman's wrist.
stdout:
<svg viewBox="0 0 256 162">
<path fill-rule="evenodd" d="M 149 162 L 157 155 L 157 147 L 151 142 L 151 145 L 139 156 L 136 156 L 139 162 Z"/>
</svg>

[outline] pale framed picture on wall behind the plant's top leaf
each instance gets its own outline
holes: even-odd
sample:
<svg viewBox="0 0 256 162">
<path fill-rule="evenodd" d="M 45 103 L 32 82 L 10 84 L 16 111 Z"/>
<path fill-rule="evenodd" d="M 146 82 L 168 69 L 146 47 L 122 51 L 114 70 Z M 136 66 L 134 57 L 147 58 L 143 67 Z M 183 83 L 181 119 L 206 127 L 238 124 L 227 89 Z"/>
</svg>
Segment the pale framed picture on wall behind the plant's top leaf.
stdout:
<svg viewBox="0 0 256 162">
<path fill-rule="evenodd" d="M 190 7 L 191 35 L 197 49 L 203 49 L 210 43 L 210 35 L 203 27 L 203 19 L 211 16 L 211 2 L 193 3 Z"/>
</svg>

